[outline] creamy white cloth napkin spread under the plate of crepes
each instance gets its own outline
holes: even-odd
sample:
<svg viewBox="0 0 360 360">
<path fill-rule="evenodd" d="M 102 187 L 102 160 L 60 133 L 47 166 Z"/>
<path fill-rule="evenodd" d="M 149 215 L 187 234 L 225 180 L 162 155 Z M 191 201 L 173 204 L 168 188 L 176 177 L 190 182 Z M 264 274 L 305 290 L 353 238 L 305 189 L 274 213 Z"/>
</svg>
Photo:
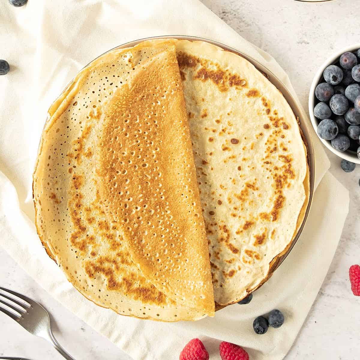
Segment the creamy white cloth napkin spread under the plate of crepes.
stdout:
<svg viewBox="0 0 360 360">
<path fill-rule="evenodd" d="M 23 8 L 3 1 L 0 19 L 0 57 L 11 69 L 0 78 L 1 245 L 59 302 L 136 360 L 176 359 L 194 337 L 203 339 L 211 359 L 219 359 L 222 340 L 245 347 L 253 360 L 283 359 L 324 280 L 348 211 L 348 193 L 327 172 L 329 161 L 315 134 L 317 189 L 296 246 L 249 305 L 235 304 L 194 323 L 128 318 L 82 297 L 41 247 L 31 189 L 49 105 L 77 71 L 114 46 L 160 35 L 216 40 L 260 61 L 296 97 L 280 66 L 197 0 L 31 0 Z M 255 335 L 253 319 L 274 308 L 285 314 L 283 327 Z"/>
</svg>

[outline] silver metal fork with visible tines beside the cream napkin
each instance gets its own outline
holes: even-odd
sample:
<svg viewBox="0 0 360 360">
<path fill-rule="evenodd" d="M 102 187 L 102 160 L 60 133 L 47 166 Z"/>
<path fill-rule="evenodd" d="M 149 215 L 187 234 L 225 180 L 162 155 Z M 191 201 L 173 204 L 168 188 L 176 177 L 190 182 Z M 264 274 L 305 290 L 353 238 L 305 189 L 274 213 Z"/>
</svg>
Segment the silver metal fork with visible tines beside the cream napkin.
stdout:
<svg viewBox="0 0 360 360">
<path fill-rule="evenodd" d="M 0 286 L 0 311 L 17 321 L 29 333 L 40 336 L 48 340 L 51 345 L 67 360 L 75 360 L 57 342 L 50 328 L 49 313 L 38 302 L 30 297 L 19 294 L 10 289 Z M 14 295 L 17 298 L 14 298 Z M 5 300 L 4 300 L 5 299 Z M 22 301 L 20 301 L 22 300 Z M 13 311 L 9 311 L 1 304 L 8 306 Z M 15 305 L 14 305 L 15 304 Z M 5 357 L 0 359 L 21 359 Z M 25 360 L 25 359 L 24 359 Z"/>
</svg>

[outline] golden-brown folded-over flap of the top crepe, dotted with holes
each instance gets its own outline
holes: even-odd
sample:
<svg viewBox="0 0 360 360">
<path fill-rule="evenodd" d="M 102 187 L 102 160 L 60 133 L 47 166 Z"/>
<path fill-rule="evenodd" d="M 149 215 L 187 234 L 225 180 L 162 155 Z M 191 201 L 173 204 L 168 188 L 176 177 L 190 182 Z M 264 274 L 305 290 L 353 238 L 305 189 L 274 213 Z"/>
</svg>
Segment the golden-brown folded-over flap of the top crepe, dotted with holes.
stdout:
<svg viewBox="0 0 360 360">
<path fill-rule="evenodd" d="M 132 260 L 173 300 L 213 314 L 208 246 L 175 46 L 109 100 L 98 189 Z"/>
</svg>

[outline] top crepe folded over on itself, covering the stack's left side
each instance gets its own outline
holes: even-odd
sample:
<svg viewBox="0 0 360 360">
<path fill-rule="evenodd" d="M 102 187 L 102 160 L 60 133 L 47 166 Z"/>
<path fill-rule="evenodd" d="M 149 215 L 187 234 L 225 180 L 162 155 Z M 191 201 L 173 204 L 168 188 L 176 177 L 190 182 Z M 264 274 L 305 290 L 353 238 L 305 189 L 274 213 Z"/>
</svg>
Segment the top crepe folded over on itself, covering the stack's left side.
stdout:
<svg viewBox="0 0 360 360">
<path fill-rule="evenodd" d="M 36 226 L 69 281 L 122 315 L 213 316 L 175 46 L 104 55 L 49 114 L 33 182 Z"/>
</svg>

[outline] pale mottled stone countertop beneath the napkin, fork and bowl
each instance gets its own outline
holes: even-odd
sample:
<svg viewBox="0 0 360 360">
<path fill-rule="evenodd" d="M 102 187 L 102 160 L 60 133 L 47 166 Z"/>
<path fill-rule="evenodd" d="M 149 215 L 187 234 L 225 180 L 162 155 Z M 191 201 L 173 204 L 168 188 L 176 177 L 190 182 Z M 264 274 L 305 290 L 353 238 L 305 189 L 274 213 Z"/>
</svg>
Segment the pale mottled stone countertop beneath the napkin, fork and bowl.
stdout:
<svg viewBox="0 0 360 360">
<path fill-rule="evenodd" d="M 202 2 L 241 36 L 278 61 L 305 109 L 312 78 L 325 58 L 360 42 L 360 1 Z M 360 351 L 359 334 L 355 331 L 360 323 L 360 299 L 348 296 L 348 268 L 360 263 L 360 166 L 346 174 L 340 168 L 340 159 L 326 151 L 331 161 L 330 171 L 350 191 L 350 209 L 327 277 L 286 360 L 353 360 Z M 40 299 L 54 316 L 55 337 L 66 344 L 66 350 L 76 359 L 130 359 L 42 290 L 2 249 L 0 259 L 0 284 Z M 14 321 L 1 316 L 0 324 L 1 356 L 63 359 L 49 343 L 23 331 Z M 83 336 L 76 336 L 79 333 Z"/>
</svg>

